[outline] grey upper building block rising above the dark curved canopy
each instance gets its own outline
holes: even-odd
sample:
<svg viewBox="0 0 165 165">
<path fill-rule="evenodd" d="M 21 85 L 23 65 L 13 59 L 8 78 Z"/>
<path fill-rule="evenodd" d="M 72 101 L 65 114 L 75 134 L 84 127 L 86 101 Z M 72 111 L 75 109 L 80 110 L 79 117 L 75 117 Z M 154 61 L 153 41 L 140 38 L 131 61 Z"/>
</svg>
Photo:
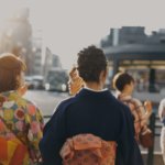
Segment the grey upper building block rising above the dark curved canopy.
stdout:
<svg viewBox="0 0 165 165">
<path fill-rule="evenodd" d="M 151 35 L 145 34 L 144 26 L 122 26 L 110 29 L 110 34 L 101 40 L 101 47 L 110 47 L 125 44 L 162 44 L 165 43 L 165 30 L 153 31 Z"/>
</svg>

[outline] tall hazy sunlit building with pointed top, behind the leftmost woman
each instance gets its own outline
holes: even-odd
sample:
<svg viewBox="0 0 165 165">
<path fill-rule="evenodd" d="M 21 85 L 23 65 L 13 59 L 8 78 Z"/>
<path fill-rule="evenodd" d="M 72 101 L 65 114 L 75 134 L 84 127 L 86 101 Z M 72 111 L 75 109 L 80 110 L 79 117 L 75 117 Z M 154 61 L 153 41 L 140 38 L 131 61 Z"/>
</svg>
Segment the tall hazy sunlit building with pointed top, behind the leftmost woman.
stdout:
<svg viewBox="0 0 165 165">
<path fill-rule="evenodd" d="M 32 26 L 29 22 L 29 9 L 21 8 L 6 20 L 0 31 L 0 53 L 10 52 L 21 56 L 33 73 Z"/>
</svg>

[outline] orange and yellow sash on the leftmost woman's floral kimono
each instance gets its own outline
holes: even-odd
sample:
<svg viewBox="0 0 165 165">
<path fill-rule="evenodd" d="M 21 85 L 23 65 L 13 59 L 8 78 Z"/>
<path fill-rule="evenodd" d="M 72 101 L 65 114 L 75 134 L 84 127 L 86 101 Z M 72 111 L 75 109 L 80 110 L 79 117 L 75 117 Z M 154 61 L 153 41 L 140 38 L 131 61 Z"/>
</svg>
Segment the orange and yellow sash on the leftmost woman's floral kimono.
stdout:
<svg viewBox="0 0 165 165">
<path fill-rule="evenodd" d="M 23 165 L 28 155 L 26 146 L 16 139 L 6 140 L 0 138 L 0 164 Z"/>
</svg>

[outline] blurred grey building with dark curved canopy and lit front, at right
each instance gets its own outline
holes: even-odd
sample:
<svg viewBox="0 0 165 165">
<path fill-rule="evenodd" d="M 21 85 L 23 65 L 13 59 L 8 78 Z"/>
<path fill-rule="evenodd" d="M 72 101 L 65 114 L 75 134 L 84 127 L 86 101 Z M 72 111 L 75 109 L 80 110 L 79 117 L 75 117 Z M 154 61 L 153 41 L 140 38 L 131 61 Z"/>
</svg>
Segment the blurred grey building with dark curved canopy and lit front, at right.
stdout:
<svg viewBox="0 0 165 165">
<path fill-rule="evenodd" d="M 145 34 L 143 26 L 111 29 L 100 42 L 113 70 L 130 72 L 151 91 L 165 86 L 165 30 Z M 112 76 L 111 75 L 111 76 Z M 142 89 L 143 90 L 143 89 Z"/>
</svg>

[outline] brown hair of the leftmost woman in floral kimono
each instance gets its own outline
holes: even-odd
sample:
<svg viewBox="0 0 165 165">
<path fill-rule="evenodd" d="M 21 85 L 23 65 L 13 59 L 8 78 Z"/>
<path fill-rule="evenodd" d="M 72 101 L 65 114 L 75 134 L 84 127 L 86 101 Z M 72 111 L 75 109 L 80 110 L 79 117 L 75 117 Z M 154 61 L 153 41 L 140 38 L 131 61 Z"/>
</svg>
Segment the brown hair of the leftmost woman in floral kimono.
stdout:
<svg viewBox="0 0 165 165">
<path fill-rule="evenodd" d="M 21 86 L 21 73 L 25 64 L 15 55 L 0 55 L 0 92 L 16 90 Z"/>
</svg>

